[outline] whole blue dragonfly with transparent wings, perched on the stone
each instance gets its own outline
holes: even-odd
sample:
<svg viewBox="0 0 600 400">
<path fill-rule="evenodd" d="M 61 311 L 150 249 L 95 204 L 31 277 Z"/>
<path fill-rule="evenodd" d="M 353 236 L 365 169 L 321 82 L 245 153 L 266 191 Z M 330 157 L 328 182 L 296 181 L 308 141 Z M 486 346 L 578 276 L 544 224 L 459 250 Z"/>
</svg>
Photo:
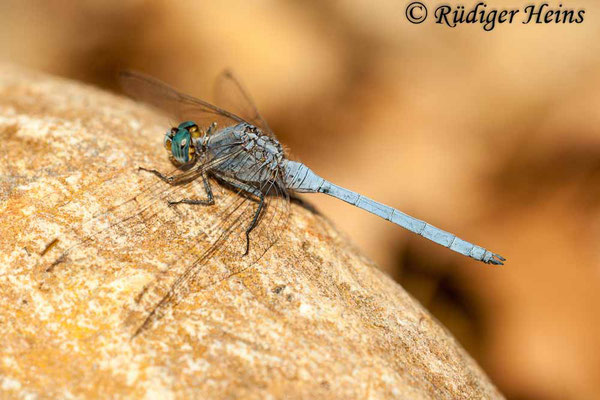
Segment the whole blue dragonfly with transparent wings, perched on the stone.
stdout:
<svg viewBox="0 0 600 400">
<path fill-rule="evenodd" d="M 248 92 L 230 71 L 224 71 L 217 79 L 220 106 L 184 94 L 139 72 L 121 72 L 120 83 L 133 99 L 177 120 L 163 139 L 175 169 L 164 173 L 139 167 L 140 171 L 154 175 L 157 184 L 144 190 L 145 197 L 136 197 L 135 213 L 142 214 L 150 209 L 157 199 L 163 199 L 169 207 L 219 208 L 210 232 L 212 242 L 201 251 L 196 249 L 198 241 L 192 241 L 187 247 L 186 252 L 192 254 L 191 261 L 162 290 L 155 290 L 154 299 L 149 300 L 151 306 L 147 315 L 142 318 L 134 336 L 159 318 L 167 305 L 191 290 L 190 285 L 198 281 L 200 269 L 209 260 L 226 254 L 230 256 L 228 263 L 245 265 L 237 269 L 230 267 L 234 272 L 225 276 L 231 276 L 263 257 L 288 228 L 290 198 L 295 193 L 322 193 L 335 197 L 486 264 L 503 265 L 506 261 L 499 254 L 452 233 L 338 186 L 305 164 L 289 159 Z M 224 204 L 217 204 L 213 194 L 214 181 L 234 191 L 235 195 L 227 197 Z M 176 189 L 190 182 L 202 183 L 203 197 L 171 196 L 167 199 L 166 193 L 179 193 Z M 158 184 L 175 190 L 169 192 Z M 143 198 L 146 200 L 141 200 Z M 128 220 L 131 216 L 115 225 Z M 210 284 L 206 283 L 204 287 Z"/>
</svg>

